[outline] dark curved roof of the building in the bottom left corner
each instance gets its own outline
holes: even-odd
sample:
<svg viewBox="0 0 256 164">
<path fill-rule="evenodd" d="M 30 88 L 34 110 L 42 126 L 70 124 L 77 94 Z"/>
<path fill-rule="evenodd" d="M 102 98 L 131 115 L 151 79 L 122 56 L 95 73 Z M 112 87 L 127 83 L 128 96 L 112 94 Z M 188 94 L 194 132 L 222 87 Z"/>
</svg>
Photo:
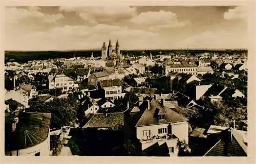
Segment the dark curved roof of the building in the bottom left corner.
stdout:
<svg viewBox="0 0 256 164">
<path fill-rule="evenodd" d="M 15 115 L 6 115 L 6 128 L 11 130 Z M 43 142 L 49 133 L 51 113 L 20 112 L 15 132 L 6 134 L 6 149 L 19 150 L 32 147 Z M 5 130 L 7 133 L 9 130 Z"/>
</svg>

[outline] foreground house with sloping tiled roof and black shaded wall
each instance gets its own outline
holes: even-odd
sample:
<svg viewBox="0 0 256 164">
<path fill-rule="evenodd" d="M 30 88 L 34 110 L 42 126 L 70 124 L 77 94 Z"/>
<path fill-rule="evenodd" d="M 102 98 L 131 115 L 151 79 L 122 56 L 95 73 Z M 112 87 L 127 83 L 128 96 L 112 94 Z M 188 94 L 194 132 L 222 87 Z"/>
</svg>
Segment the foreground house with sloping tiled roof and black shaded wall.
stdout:
<svg viewBox="0 0 256 164">
<path fill-rule="evenodd" d="M 113 156 L 120 154 L 118 148 L 123 146 L 126 137 L 125 120 L 124 112 L 94 114 L 82 127 L 84 144 L 87 145 L 85 149 L 91 155 Z"/>
</svg>

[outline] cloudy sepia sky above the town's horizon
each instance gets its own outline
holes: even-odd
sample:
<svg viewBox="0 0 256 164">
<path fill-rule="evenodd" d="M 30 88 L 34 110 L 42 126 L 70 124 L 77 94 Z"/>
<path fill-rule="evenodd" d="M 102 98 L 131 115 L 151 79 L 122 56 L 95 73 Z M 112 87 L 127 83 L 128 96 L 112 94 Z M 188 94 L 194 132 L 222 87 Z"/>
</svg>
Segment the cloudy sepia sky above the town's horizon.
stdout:
<svg viewBox="0 0 256 164">
<path fill-rule="evenodd" d="M 5 50 L 247 49 L 244 6 L 6 7 Z"/>
</svg>

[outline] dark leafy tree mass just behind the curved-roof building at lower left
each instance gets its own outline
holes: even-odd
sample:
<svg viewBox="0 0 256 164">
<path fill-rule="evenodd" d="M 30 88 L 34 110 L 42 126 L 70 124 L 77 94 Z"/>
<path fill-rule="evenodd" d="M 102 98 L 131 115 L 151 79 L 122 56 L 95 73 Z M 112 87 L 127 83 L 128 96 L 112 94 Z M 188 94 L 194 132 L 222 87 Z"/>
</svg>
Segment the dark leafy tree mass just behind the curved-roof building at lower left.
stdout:
<svg viewBox="0 0 256 164">
<path fill-rule="evenodd" d="M 76 102 L 69 102 L 68 99 L 54 99 L 45 103 L 34 103 L 27 109 L 29 112 L 52 113 L 51 128 L 58 128 L 65 125 L 72 125 L 77 117 Z"/>
</svg>

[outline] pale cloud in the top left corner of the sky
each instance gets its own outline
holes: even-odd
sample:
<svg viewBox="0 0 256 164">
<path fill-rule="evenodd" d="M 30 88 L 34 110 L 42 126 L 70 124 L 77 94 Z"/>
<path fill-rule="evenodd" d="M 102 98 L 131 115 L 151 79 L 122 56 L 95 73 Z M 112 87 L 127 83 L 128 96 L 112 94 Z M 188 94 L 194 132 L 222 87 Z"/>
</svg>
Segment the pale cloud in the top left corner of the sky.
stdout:
<svg viewBox="0 0 256 164">
<path fill-rule="evenodd" d="M 58 14 L 45 14 L 39 11 L 39 7 L 28 7 L 28 8 L 16 8 L 16 7 L 6 7 L 6 21 L 7 24 L 19 24 L 22 21 L 36 18 L 37 21 L 42 23 L 53 24 L 56 23 L 58 19 L 64 16 L 60 13 Z"/>
</svg>

